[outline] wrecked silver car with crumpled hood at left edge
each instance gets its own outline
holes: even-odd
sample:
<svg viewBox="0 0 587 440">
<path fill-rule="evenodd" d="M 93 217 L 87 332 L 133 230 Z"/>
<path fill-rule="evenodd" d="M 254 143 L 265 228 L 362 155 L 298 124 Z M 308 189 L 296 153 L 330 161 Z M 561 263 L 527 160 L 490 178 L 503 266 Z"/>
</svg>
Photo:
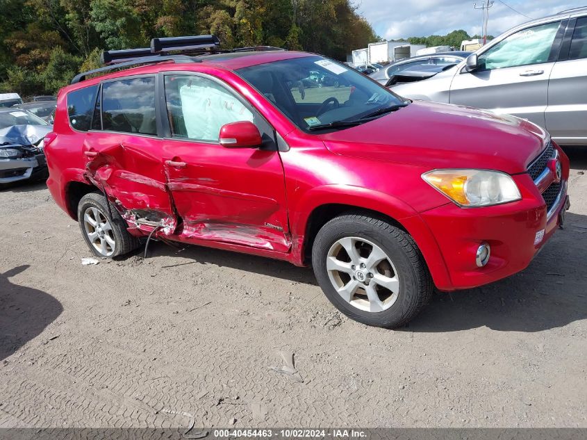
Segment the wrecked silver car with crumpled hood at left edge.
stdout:
<svg viewBox="0 0 587 440">
<path fill-rule="evenodd" d="M 0 108 L 0 187 L 47 179 L 44 136 L 52 127 L 28 111 Z"/>
</svg>

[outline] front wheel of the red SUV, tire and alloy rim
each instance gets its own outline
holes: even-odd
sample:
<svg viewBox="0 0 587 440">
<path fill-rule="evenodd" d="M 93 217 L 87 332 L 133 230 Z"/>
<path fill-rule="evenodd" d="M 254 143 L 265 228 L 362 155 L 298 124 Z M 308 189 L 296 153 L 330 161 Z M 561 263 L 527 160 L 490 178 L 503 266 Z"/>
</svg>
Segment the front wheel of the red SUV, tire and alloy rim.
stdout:
<svg viewBox="0 0 587 440">
<path fill-rule="evenodd" d="M 312 265 L 326 298 L 349 318 L 374 327 L 405 325 L 433 291 L 413 238 L 359 213 L 333 218 L 318 231 Z"/>
</svg>

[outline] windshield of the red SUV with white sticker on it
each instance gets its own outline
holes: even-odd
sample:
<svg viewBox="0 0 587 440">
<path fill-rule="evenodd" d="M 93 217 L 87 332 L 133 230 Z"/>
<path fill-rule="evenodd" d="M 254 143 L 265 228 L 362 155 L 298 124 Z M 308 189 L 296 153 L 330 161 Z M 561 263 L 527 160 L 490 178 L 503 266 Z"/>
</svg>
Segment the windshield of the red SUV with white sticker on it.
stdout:
<svg viewBox="0 0 587 440">
<path fill-rule="evenodd" d="M 320 56 L 243 67 L 236 72 L 304 131 L 360 120 L 381 108 L 404 104 L 356 70 Z"/>
</svg>

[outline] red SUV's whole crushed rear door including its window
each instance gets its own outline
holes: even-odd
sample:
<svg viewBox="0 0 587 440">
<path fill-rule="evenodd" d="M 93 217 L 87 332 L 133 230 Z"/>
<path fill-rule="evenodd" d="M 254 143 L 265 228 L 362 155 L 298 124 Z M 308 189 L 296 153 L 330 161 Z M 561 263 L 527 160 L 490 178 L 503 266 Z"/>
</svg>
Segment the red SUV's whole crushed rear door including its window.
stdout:
<svg viewBox="0 0 587 440">
<path fill-rule="evenodd" d="M 106 190 L 126 220 L 170 231 L 176 218 L 161 160 L 156 78 L 131 76 L 101 84 L 83 154 L 88 178 Z"/>
</svg>

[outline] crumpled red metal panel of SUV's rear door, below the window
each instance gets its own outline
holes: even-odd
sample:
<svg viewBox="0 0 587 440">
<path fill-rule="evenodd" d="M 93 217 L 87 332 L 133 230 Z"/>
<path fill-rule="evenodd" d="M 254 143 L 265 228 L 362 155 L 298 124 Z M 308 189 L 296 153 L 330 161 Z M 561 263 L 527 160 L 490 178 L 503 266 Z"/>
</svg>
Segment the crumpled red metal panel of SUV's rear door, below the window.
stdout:
<svg viewBox="0 0 587 440">
<path fill-rule="evenodd" d="M 162 140 L 149 136 L 90 131 L 83 154 L 86 177 L 104 188 L 131 225 L 160 225 L 171 233 L 176 217 L 165 181 L 162 147 Z"/>
</svg>

